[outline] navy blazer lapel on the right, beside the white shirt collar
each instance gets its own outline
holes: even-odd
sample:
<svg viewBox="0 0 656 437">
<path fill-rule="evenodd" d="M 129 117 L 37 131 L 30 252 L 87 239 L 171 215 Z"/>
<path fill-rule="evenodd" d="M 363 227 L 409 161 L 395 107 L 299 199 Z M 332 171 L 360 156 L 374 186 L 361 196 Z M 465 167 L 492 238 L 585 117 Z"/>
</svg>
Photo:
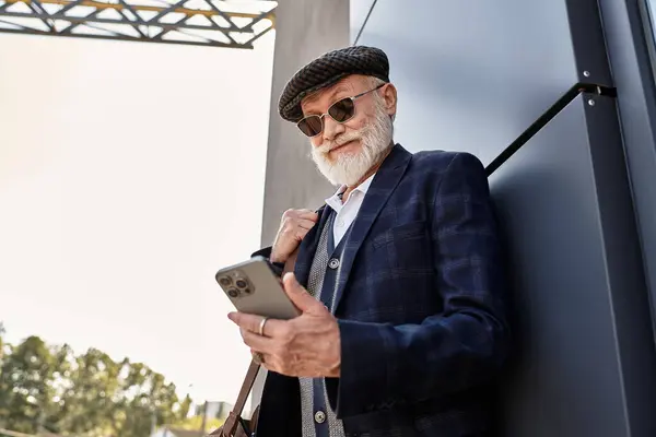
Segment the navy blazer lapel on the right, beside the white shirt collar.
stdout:
<svg viewBox="0 0 656 437">
<path fill-rule="evenodd" d="M 339 282 L 335 294 L 333 311 L 337 312 L 339 303 L 342 298 L 344 286 L 349 281 L 349 274 L 353 267 L 353 261 L 358 255 L 358 250 L 366 238 L 372 224 L 387 203 L 389 196 L 401 180 L 406 173 L 408 163 L 412 154 L 403 149 L 400 144 L 396 144 L 389 155 L 378 168 L 376 176 L 372 180 L 364 201 L 360 206 L 358 216 L 353 222 L 348 241 L 345 241 L 344 251 L 341 259 L 341 269 L 339 273 Z"/>
</svg>

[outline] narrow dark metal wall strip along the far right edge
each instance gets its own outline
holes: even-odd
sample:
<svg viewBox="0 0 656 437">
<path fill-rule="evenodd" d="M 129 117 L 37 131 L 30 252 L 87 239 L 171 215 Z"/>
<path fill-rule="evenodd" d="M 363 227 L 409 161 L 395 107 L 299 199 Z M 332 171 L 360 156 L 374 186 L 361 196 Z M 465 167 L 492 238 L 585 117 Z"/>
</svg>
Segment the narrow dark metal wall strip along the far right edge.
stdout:
<svg viewBox="0 0 656 437">
<path fill-rule="evenodd" d="M 599 4 L 656 320 L 656 86 L 646 40 L 653 35 L 645 35 L 647 17 L 641 16 L 639 2 L 600 0 Z"/>
</svg>

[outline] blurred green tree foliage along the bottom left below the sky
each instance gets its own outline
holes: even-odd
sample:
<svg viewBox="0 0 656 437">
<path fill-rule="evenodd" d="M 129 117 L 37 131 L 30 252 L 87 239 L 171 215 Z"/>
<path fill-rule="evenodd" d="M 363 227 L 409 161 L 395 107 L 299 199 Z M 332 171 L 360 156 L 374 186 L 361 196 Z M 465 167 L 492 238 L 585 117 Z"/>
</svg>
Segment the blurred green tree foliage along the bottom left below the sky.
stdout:
<svg viewBox="0 0 656 437">
<path fill-rule="evenodd" d="M 0 427 L 21 433 L 147 437 L 154 425 L 180 423 L 190 409 L 175 385 L 141 363 L 115 362 L 102 351 L 75 354 L 38 336 L 2 341 Z"/>
</svg>

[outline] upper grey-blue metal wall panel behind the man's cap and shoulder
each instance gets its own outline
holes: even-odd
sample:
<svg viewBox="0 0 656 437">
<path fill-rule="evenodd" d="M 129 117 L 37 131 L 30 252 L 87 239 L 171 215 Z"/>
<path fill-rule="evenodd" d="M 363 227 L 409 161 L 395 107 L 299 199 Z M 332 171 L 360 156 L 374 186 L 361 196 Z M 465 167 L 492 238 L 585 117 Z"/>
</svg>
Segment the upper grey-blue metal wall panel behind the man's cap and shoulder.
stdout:
<svg viewBox="0 0 656 437">
<path fill-rule="evenodd" d="M 359 44 L 390 58 L 397 139 L 412 151 L 469 151 L 487 164 L 582 78 L 608 81 L 602 47 L 584 50 L 571 38 L 570 20 L 599 29 L 593 3 L 377 2 Z M 576 62 L 575 50 L 586 60 Z"/>
</svg>

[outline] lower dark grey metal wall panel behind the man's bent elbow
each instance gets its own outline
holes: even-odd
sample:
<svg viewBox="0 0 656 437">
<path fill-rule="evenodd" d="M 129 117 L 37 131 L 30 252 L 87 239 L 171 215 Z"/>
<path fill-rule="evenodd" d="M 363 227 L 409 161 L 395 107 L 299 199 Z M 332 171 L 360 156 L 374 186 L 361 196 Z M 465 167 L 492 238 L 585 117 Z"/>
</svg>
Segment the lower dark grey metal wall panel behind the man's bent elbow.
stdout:
<svg viewBox="0 0 656 437">
<path fill-rule="evenodd" d="M 507 437 L 656 435 L 634 410 L 656 404 L 656 365 L 616 107 L 590 98 L 490 177 L 514 279 Z"/>
</svg>

